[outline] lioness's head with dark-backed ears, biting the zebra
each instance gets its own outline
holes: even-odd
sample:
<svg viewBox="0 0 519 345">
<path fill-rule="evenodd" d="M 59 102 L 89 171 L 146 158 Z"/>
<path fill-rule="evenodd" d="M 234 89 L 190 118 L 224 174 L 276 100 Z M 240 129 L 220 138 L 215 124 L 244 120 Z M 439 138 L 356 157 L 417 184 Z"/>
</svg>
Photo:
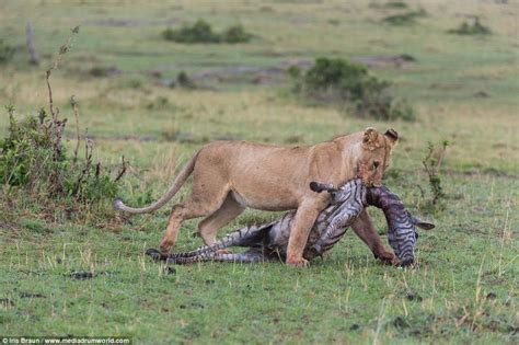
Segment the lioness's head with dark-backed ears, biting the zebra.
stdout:
<svg viewBox="0 0 519 345">
<path fill-rule="evenodd" d="M 394 129 L 388 129 L 383 135 L 374 128 L 365 130 L 358 175 L 367 186 L 382 185 L 382 174 L 389 166 L 391 150 L 397 140 L 399 134 Z"/>
</svg>

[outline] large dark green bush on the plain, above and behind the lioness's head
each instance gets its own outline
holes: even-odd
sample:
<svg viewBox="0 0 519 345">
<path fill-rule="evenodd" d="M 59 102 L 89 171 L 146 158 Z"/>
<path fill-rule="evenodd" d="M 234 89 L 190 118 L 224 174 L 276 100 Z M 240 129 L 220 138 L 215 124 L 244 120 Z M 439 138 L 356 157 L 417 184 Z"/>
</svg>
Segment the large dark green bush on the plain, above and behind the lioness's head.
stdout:
<svg viewBox="0 0 519 345">
<path fill-rule="evenodd" d="M 370 76 L 367 68 L 345 59 L 319 58 L 305 73 L 290 67 L 292 91 L 315 101 L 335 103 L 362 117 L 413 120 L 413 108 L 390 93 L 391 82 Z"/>
</svg>

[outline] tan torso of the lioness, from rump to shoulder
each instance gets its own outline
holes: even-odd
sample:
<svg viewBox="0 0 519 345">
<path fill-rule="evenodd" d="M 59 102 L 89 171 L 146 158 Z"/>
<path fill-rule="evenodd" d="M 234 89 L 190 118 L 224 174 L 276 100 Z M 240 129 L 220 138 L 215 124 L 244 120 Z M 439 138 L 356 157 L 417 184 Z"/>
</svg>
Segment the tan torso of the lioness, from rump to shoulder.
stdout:
<svg viewBox="0 0 519 345">
<path fill-rule="evenodd" d="M 324 161 L 323 161 L 324 158 Z M 322 162 L 321 162 L 322 161 Z M 318 175 L 338 171 L 341 150 L 335 142 L 284 147 L 247 141 L 217 141 L 198 153 L 194 179 L 223 183 L 243 206 L 264 210 L 297 208 Z M 325 165 L 325 166 L 320 166 Z"/>
</svg>

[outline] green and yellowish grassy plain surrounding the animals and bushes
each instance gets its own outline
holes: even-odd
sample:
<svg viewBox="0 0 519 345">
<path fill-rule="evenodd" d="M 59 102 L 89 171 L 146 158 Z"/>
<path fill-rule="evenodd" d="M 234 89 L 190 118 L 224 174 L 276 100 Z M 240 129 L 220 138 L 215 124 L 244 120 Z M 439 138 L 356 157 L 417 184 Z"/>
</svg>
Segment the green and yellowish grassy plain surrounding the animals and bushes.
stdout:
<svg viewBox="0 0 519 345">
<path fill-rule="evenodd" d="M 0 39 L 19 47 L 0 65 L 0 104 L 16 116 L 47 106 L 44 73 L 70 28 L 72 49 L 51 76 L 54 100 L 69 118 L 74 94 L 81 131 L 95 159 L 131 163 L 120 196 L 136 204 L 161 195 L 175 169 L 211 140 L 230 138 L 312 145 L 338 134 L 393 127 L 401 135 L 385 184 L 437 228 L 420 232 L 418 269 L 377 262 L 348 232 L 333 252 L 293 269 L 281 264 L 164 267 L 143 256 L 157 246 L 169 214 L 120 221 L 103 216 L 70 221 L 0 192 L 0 337 L 2 335 L 126 335 L 136 343 L 517 343 L 519 66 L 516 1 L 175 1 L 104 4 L 2 1 Z M 411 26 L 387 15 L 426 10 Z M 447 31 L 478 15 L 493 35 Z M 183 45 L 161 32 L 199 18 L 220 31 L 237 23 L 254 34 L 238 45 Z M 27 64 L 25 23 L 35 27 L 41 66 Z M 358 118 L 332 106 L 303 104 L 272 68 L 315 57 L 366 60 L 412 55 L 403 66 L 370 71 L 394 82 L 416 108 L 416 122 Z M 92 68 L 115 67 L 112 77 Z M 237 73 L 237 69 L 250 72 Z M 164 87 L 180 71 L 195 90 Z M 205 74 L 204 74 L 205 73 Z M 207 74 L 218 78 L 207 78 Z M 206 77 L 204 77 L 206 76 Z M 0 134 L 9 117 L 0 116 Z M 430 197 L 422 160 L 428 141 L 450 142 L 441 169 L 445 210 Z M 420 189 L 426 191 L 425 195 Z M 182 199 L 188 188 L 175 196 Z M 173 205 L 173 203 L 171 203 Z M 383 217 L 370 210 L 385 241 Z M 276 214 L 247 210 L 221 234 Z M 201 244 L 197 221 L 185 222 L 178 250 Z M 73 279 L 72 272 L 93 272 Z"/>
</svg>

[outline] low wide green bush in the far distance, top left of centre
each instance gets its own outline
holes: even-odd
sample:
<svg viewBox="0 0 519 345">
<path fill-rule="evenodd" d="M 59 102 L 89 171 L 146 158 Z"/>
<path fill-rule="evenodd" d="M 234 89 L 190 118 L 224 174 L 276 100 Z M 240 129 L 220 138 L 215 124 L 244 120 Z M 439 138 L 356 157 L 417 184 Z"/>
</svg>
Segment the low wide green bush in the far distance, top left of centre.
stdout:
<svg viewBox="0 0 519 345">
<path fill-rule="evenodd" d="M 177 43 L 243 43 L 252 37 L 242 25 L 228 27 L 223 33 L 215 33 L 206 21 L 199 19 L 193 25 L 184 25 L 178 30 L 171 27 L 162 32 L 162 36 L 168 41 Z"/>
</svg>

